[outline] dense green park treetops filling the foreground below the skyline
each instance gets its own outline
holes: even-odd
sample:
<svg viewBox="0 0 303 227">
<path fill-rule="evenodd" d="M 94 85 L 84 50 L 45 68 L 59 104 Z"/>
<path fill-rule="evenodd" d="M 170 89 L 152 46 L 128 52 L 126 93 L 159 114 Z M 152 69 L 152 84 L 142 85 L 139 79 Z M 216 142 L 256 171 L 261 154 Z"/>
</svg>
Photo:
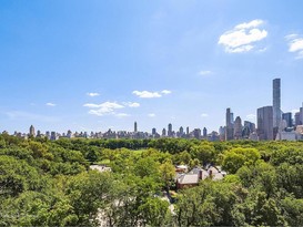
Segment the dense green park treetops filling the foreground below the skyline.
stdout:
<svg viewBox="0 0 303 227">
<path fill-rule="evenodd" d="M 172 193 L 178 164 L 228 175 Z M 2 134 L 0 226 L 302 226 L 302 142 Z"/>
</svg>

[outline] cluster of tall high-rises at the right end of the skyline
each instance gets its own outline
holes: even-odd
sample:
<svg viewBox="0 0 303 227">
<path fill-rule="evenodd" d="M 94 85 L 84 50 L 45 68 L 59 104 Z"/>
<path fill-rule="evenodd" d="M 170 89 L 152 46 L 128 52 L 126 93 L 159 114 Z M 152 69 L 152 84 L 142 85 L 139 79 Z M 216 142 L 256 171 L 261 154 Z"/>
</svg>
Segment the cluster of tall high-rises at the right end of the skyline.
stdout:
<svg viewBox="0 0 303 227">
<path fill-rule="evenodd" d="M 226 109 L 226 125 L 220 127 L 220 138 L 225 141 L 250 138 L 253 141 L 297 141 L 303 140 L 303 104 L 292 117 L 291 112 L 281 110 L 281 79 L 273 80 L 273 103 L 256 110 L 256 126 L 244 122 L 240 116 L 233 118 Z"/>
</svg>

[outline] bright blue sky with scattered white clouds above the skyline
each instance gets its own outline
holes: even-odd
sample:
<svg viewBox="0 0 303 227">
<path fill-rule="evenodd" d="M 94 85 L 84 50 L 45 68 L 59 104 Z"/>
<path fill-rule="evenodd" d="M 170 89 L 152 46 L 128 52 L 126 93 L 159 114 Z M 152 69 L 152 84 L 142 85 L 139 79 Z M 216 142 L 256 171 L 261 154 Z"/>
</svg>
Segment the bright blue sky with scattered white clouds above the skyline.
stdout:
<svg viewBox="0 0 303 227">
<path fill-rule="evenodd" d="M 303 1 L 2 0 L 0 131 L 218 131 L 281 78 L 302 106 Z"/>
</svg>

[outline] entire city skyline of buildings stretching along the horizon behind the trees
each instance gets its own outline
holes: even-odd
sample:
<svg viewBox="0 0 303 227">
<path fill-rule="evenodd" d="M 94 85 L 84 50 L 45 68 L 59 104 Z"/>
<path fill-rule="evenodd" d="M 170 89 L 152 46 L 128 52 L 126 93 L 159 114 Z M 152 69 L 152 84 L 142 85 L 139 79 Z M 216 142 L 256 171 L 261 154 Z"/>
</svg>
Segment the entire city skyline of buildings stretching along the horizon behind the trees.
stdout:
<svg viewBox="0 0 303 227">
<path fill-rule="evenodd" d="M 13 135 L 19 137 L 48 137 L 55 141 L 58 138 L 160 138 L 160 137 L 176 137 L 176 138 L 196 138 L 208 141 L 232 141 L 232 140 L 253 140 L 253 141 L 273 141 L 273 140 L 286 140 L 299 141 L 303 140 L 303 104 L 300 111 L 292 116 L 291 112 L 283 113 L 281 110 L 281 79 L 273 80 L 273 102 L 272 105 L 263 106 L 256 110 L 256 125 L 252 122 L 244 121 L 240 116 L 234 120 L 234 114 L 231 109 L 226 109 L 225 113 L 225 126 L 221 126 L 219 132 L 208 133 L 204 127 L 194 128 L 190 131 L 181 126 L 179 131 L 173 131 L 172 124 L 168 125 L 168 128 L 163 128 L 161 133 L 156 132 L 156 128 L 152 128 L 151 133 L 138 131 L 138 123 L 134 122 L 133 132 L 127 131 L 112 131 L 109 130 L 102 132 L 71 132 L 58 133 L 46 132 L 42 134 L 37 131 L 33 125 L 30 126 L 29 133 L 14 132 Z"/>
</svg>

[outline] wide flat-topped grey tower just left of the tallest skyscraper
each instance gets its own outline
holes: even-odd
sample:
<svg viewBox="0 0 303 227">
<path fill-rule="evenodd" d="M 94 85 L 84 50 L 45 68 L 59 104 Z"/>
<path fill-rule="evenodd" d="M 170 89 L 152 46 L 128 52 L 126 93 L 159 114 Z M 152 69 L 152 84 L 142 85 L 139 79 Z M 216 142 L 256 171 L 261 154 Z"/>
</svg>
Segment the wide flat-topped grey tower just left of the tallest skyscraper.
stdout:
<svg viewBox="0 0 303 227">
<path fill-rule="evenodd" d="M 273 107 L 264 106 L 256 111 L 257 136 L 260 141 L 273 140 Z"/>
</svg>

